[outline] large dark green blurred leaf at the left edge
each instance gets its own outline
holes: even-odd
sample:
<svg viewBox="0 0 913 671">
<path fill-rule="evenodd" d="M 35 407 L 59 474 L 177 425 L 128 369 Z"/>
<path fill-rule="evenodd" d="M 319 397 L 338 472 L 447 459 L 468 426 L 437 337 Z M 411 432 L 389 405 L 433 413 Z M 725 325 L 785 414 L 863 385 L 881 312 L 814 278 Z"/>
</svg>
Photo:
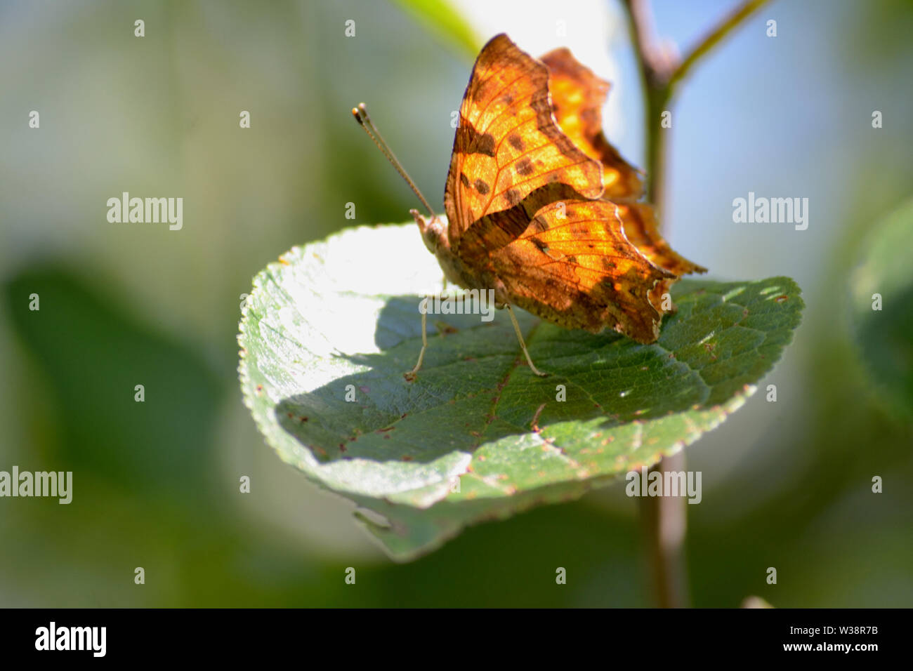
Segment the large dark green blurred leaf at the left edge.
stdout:
<svg viewBox="0 0 913 671">
<path fill-rule="evenodd" d="M 222 390 L 199 354 L 59 267 L 30 268 L 10 278 L 4 294 L 59 409 L 63 435 L 49 460 L 134 495 L 202 498 Z M 33 295 L 40 309 L 29 309 Z"/>
</svg>

